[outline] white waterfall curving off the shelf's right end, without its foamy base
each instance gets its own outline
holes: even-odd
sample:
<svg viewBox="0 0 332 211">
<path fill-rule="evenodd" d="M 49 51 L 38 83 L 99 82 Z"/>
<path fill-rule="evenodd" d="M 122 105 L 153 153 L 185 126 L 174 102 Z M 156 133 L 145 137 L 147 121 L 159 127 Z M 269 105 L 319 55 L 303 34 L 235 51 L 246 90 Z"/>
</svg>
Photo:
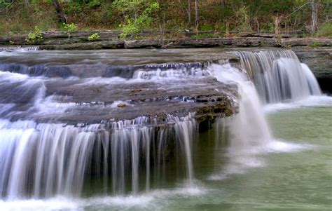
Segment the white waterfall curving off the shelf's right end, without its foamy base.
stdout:
<svg viewBox="0 0 332 211">
<path fill-rule="evenodd" d="M 208 70 L 219 81 L 237 84 L 240 95 L 239 113 L 233 118 L 234 126 L 231 131 L 232 144 L 237 146 L 235 150 L 246 150 L 248 145 L 260 146 L 272 140 L 270 128 L 262 112 L 261 100 L 247 74 L 230 64 L 212 64 Z"/>
</svg>

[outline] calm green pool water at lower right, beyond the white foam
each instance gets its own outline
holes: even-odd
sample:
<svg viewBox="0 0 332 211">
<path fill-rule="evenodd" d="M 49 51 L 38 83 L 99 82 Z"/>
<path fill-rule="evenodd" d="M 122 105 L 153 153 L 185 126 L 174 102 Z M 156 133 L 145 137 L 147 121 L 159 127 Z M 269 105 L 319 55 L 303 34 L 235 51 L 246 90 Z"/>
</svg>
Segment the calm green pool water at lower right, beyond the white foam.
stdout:
<svg viewBox="0 0 332 211">
<path fill-rule="evenodd" d="M 272 144 L 275 152 L 256 155 L 263 165 L 221 180 L 205 179 L 205 194 L 173 198 L 165 209 L 331 210 L 331 117 L 332 107 L 269 114 L 272 131 L 282 142 Z"/>
</svg>

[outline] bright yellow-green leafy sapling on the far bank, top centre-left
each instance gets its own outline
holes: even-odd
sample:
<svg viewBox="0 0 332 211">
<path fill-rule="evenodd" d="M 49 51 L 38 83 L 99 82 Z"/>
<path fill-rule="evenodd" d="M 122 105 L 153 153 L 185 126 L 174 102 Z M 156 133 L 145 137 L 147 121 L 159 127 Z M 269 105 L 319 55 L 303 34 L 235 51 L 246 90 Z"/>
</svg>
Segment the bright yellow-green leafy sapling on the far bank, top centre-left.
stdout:
<svg viewBox="0 0 332 211">
<path fill-rule="evenodd" d="M 159 9 L 158 2 L 144 0 L 116 0 L 113 6 L 125 15 L 125 24 L 119 25 L 123 29 L 122 39 L 149 27 Z"/>
</svg>

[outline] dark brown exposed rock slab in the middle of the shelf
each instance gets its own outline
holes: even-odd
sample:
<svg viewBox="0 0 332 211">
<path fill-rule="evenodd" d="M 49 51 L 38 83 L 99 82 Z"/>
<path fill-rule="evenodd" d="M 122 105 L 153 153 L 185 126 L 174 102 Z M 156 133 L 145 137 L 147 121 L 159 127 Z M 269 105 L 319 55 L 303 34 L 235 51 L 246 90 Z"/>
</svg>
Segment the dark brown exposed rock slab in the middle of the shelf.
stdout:
<svg viewBox="0 0 332 211">
<path fill-rule="evenodd" d="M 156 117 L 162 122 L 166 114 L 186 116 L 196 112 L 202 115 L 234 114 L 236 88 L 227 86 L 213 78 L 168 83 L 114 83 L 88 85 L 48 83 L 48 94 L 66 96 L 68 103 L 75 106 L 66 109 L 65 114 L 47 117 L 35 114 L 36 118 L 56 118 L 61 122 L 98 123 L 102 120 L 133 119 L 137 116 Z M 140 89 L 132 93 L 132 89 Z M 64 101 L 64 103 L 66 103 Z M 225 112 L 227 111 L 227 112 Z"/>
</svg>

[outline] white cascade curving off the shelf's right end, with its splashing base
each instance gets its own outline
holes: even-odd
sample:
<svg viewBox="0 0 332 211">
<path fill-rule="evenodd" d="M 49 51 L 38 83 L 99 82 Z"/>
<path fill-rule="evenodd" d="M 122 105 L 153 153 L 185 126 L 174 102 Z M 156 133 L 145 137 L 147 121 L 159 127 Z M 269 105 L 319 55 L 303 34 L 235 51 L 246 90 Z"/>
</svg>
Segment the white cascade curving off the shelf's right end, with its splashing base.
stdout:
<svg viewBox="0 0 332 211">
<path fill-rule="evenodd" d="M 216 123 L 216 134 L 224 135 L 226 127 L 229 130 L 230 146 L 227 149 L 229 162 L 221 174 L 213 175 L 210 179 L 223 179 L 228 175 L 242 173 L 247 168 L 262 165 L 262 161 L 256 158 L 256 152 L 268 147 L 273 142 L 273 137 L 262 112 L 261 100 L 247 73 L 230 64 L 212 64 L 208 67 L 208 71 L 219 81 L 237 84 L 239 93 L 238 114 L 219 118 Z M 216 149 L 219 149 L 220 137 L 215 139 Z M 221 158 L 216 156 L 216 160 L 219 159 Z"/>
</svg>

